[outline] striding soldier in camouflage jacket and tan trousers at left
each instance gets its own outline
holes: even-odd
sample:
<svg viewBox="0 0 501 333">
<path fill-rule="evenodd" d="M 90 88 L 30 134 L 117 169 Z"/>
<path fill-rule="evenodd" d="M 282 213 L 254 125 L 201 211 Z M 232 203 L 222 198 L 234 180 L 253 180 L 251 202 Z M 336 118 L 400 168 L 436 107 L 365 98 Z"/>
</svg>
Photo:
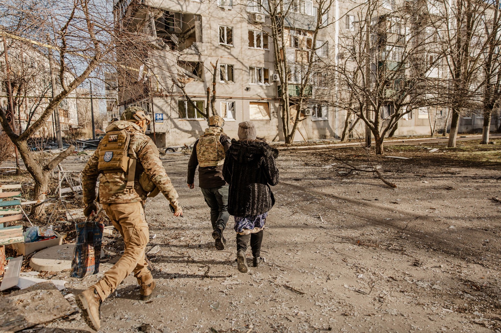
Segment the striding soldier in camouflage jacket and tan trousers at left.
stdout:
<svg viewBox="0 0 501 333">
<path fill-rule="evenodd" d="M 153 141 L 144 134 L 149 122 L 150 119 L 142 108 L 136 106 L 127 108 L 122 113 L 121 120 L 111 123 L 106 128 L 107 135 L 101 140 L 96 152 L 82 171 L 85 216 L 92 216 L 97 211 L 95 188 L 101 174 L 98 200 L 125 243 L 124 254 L 118 262 L 104 274 L 99 282 L 76 297 L 85 321 L 96 331 L 101 325 L 100 304 L 131 272 L 134 272 L 140 285 L 142 300 L 149 299 L 156 288 L 144 256 L 144 249 L 149 240 L 149 230 L 144 217 L 144 203 L 148 192 L 141 187 L 139 181 L 143 172 L 169 200 L 174 209 L 174 216 L 182 215 L 181 206 L 177 201 L 177 192 L 165 173 L 158 150 Z M 111 132 L 118 133 L 118 135 L 109 135 Z M 121 146 L 120 134 L 129 140 L 128 148 Z M 111 163 L 112 160 L 116 162 L 117 155 L 121 155 L 117 150 L 103 152 L 103 150 L 111 149 L 110 144 L 122 147 L 120 149 L 124 152 L 123 155 L 126 155 L 126 161 L 135 160 L 133 178 L 129 177 L 128 171 L 110 171 L 102 167 L 106 165 L 106 162 Z M 114 155 L 115 158 L 113 158 Z M 125 170 L 133 170 L 134 168 L 130 165 Z"/>
</svg>

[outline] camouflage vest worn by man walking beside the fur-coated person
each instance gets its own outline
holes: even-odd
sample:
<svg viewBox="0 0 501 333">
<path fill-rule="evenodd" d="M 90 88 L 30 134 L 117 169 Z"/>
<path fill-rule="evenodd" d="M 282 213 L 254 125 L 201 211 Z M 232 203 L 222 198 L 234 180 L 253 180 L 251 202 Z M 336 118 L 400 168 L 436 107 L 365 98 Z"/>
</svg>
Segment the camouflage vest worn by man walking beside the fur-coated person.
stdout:
<svg viewBox="0 0 501 333">
<path fill-rule="evenodd" d="M 222 128 L 209 127 L 200 135 L 196 146 L 199 166 L 218 166 L 224 163 L 224 147 L 219 141 L 221 134 L 224 134 Z"/>
</svg>

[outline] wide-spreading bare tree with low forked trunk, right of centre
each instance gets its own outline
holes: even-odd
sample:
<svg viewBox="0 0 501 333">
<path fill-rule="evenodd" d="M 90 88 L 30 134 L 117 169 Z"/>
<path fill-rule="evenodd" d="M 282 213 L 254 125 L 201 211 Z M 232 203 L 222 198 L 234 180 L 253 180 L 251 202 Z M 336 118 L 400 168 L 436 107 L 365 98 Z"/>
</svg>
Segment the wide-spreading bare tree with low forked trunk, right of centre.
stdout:
<svg viewBox="0 0 501 333">
<path fill-rule="evenodd" d="M 335 103 L 362 119 L 374 136 L 376 154 L 384 153 L 383 141 L 402 117 L 436 103 L 429 91 L 440 57 L 427 57 L 433 36 L 425 32 L 420 16 L 419 6 L 377 0 L 347 16 L 348 32 L 334 69 L 339 82 Z"/>
</svg>

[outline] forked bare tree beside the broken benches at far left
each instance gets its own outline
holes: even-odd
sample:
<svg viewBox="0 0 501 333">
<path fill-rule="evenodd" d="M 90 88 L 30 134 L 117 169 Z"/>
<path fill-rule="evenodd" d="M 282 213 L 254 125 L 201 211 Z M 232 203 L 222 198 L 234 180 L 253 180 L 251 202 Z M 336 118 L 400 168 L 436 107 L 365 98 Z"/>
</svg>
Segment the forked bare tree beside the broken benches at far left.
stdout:
<svg viewBox="0 0 501 333">
<path fill-rule="evenodd" d="M 13 103 L 0 110 L 2 128 L 18 148 L 28 172 L 35 180 L 34 200 L 44 200 L 49 193 L 51 170 L 71 154 L 75 147 L 72 145 L 48 162 L 39 164 L 28 145 L 28 140 L 40 135 L 40 130 L 59 104 L 84 80 L 91 75 L 97 75 L 103 63 L 113 63 L 115 56 L 112 53 L 113 45 L 110 43 L 114 27 L 113 17 L 105 4 L 90 0 L 50 3 L 9 0 L 2 2 L 0 12 L 0 23 L 3 25 L 0 33 L 8 40 L 4 52 L 9 55 L 17 54 L 20 60 L 20 63 L 13 62 L 11 65 L 16 68 L 9 72 L 12 81 L 22 80 L 23 76 L 29 74 L 28 71 L 21 70 L 22 54 L 44 59 L 45 65 L 38 68 L 39 72 L 36 74 L 44 77 L 50 77 L 51 74 L 56 76 L 57 93 L 47 102 L 35 107 L 36 110 L 22 133 L 16 130 L 15 122 L 11 121 L 14 117 L 8 115 L 8 109 L 11 115 L 14 113 Z M 52 64 L 49 61 L 53 61 Z M 3 80 L 5 81 L 5 77 Z M 11 83 L 11 88 L 13 87 L 16 85 Z M 47 91 L 46 86 L 38 91 Z M 8 89 L 8 94 L 10 100 L 20 95 L 12 89 Z M 44 205 L 35 206 L 32 215 L 44 216 Z"/>
</svg>

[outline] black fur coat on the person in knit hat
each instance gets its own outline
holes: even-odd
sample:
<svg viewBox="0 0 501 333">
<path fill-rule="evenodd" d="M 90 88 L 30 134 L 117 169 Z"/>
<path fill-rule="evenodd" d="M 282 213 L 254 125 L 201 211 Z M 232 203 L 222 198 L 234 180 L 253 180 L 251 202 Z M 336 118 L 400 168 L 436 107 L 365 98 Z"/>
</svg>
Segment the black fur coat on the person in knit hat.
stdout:
<svg viewBox="0 0 501 333">
<path fill-rule="evenodd" d="M 266 142 L 231 140 L 222 170 L 229 184 L 229 214 L 255 216 L 272 209 L 275 198 L 270 185 L 279 182 L 278 156 L 279 151 Z"/>
</svg>

